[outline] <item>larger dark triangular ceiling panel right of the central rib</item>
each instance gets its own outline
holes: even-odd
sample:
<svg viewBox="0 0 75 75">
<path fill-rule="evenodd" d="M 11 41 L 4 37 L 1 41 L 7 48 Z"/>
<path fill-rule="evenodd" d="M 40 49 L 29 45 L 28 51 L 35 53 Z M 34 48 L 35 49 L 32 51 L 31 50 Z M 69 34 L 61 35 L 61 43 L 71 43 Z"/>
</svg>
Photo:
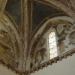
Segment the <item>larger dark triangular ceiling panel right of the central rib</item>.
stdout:
<svg viewBox="0 0 75 75">
<path fill-rule="evenodd" d="M 52 5 L 44 4 L 43 2 L 33 1 L 33 10 L 32 10 L 32 31 L 35 31 L 37 27 L 40 27 L 43 21 L 48 18 L 55 16 L 67 15 L 65 12 L 53 7 Z M 38 19 L 38 20 L 37 20 Z M 40 26 L 39 26 L 40 25 Z"/>
</svg>

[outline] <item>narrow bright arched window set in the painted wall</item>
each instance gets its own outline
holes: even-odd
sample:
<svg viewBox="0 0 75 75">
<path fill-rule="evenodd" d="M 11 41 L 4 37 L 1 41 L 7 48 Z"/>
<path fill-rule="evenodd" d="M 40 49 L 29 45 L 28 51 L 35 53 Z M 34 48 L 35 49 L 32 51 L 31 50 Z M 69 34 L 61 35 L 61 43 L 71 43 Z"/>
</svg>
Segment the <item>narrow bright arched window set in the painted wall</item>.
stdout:
<svg viewBox="0 0 75 75">
<path fill-rule="evenodd" d="M 56 33 L 52 31 L 49 33 L 49 52 L 50 52 L 50 59 L 58 56 L 57 51 L 57 40 L 56 40 Z"/>
</svg>

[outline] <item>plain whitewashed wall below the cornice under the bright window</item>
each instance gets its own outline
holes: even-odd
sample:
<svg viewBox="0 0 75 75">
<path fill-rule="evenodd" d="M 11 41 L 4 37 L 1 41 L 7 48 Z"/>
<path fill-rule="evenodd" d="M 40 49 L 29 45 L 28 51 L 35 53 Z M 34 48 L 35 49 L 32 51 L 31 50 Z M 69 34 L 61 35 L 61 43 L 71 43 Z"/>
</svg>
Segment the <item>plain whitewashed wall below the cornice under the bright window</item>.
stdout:
<svg viewBox="0 0 75 75">
<path fill-rule="evenodd" d="M 75 75 L 75 54 L 31 75 Z"/>
</svg>

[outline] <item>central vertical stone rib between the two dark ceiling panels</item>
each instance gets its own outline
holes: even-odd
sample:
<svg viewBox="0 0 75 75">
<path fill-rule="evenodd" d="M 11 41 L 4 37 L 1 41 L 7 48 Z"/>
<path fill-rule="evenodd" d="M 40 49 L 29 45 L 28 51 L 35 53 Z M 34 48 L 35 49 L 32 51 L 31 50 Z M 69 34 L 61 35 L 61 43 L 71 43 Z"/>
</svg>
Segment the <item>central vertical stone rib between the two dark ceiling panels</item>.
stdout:
<svg viewBox="0 0 75 75">
<path fill-rule="evenodd" d="M 23 45 L 23 71 L 25 72 L 28 68 L 26 64 L 27 60 L 27 52 L 29 46 L 29 38 L 30 38 L 30 0 L 22 0 L 22 26 L 21 26 L 21 36 L 22 36 L 22 45 Z M 29 63 L 29 62 L 28 62 Z"/>
</svg>

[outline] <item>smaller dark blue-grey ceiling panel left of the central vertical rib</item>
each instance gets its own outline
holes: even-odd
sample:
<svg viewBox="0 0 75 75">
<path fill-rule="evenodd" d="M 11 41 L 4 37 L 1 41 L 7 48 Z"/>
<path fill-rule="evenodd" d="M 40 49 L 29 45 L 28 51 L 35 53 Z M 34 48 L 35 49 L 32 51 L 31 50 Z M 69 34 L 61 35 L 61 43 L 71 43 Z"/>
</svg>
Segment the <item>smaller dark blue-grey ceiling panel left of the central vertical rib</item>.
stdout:
<svg viewBox="0 0 75 75">
<path fill-rule="evenodd" d="M 13 16 L 13 19 L 18 25 L 21 24 L 21 1 L 20 0 L 9 0 L 7 2 L 6 12 Z"/>
</svg>

